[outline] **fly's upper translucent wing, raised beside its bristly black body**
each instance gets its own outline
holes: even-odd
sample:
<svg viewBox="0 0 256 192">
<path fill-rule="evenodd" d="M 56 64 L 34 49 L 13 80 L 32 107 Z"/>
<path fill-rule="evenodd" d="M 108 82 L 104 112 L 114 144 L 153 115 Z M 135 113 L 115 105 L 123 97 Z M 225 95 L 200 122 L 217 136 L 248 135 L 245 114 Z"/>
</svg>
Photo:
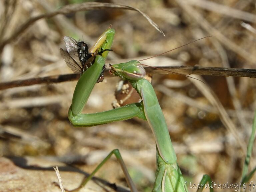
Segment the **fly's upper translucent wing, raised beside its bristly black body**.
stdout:
<svg viewBox="0 0 256 192">
<path fill-rule="evenodd" d="M 69 55 L 76 61 L 76 63 L 78 65 L 80 65 L 80 67 L 82 67 L 82 64 L 80 63 L 78 53 L 77 53 L 77 50 L 78 50 L 77 43 L 78 42 L 74 38 L 69 37 L 69 36 L 64 36 L 63 40 L 65 42 L 65 45 L 66 45 Z"/>
</svg>

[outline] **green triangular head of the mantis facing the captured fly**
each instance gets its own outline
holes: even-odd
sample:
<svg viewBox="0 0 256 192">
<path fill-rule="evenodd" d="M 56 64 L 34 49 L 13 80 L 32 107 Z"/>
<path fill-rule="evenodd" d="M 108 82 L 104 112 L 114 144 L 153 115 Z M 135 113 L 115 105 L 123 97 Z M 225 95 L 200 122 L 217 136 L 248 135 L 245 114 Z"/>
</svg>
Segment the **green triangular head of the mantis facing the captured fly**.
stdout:
<svg viewBox="0 0 256 192">
<path fill-rule="evenodd" d="M 123 80 L 140 80 L 146 75 L 145 69 L 139 61 L 132 60 L 127 63 L 111 65 L 111 75 L 119 76 Z"/>
</svg>

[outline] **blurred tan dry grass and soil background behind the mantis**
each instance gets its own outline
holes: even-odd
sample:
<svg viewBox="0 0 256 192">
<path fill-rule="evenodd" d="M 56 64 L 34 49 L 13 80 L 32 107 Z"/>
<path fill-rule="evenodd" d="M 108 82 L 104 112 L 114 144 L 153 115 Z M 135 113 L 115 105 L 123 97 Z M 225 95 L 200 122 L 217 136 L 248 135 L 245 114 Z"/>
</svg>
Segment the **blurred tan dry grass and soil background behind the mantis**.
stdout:
<svg viewBox="0 0 256 192">
<path fill-rule="evenodd" d="M 32 17 L 83 2 L 1 0 L 0 45 Z M 131 10 L 101 9 L 42 18 L 2 47 L 1 82 L 72 73 L 59 52 L 60 47 L 65 49 L 63 37 L 82 39 L 92 46 L 110 24 L 116 35 L 106 64 L 152 56 L 215 35 L 143 63 L 255 69 L 255 1 L 101 2 L 140 9 L 166 36 L 140 13 Z M 200 76 L 193 77 L 201 79 Z M 239 183 L 256 107 L 255 80 L 219 76 L 202 78 L 206 85 L 200 86 L 200 81 L 182 75 L 153 76 L 152 84 L 166 117 L 178 163 L 185 180 L 191 183 L 199 183 L 203 174 L 209 174 L 215 182 Z M 118 81 L 117 77 L 111 77 L 97 84 L 84 112 L 112 109 Z M 131 119 L 74 128 L 67 112 L 76 82 L 0 91 L 0 156 L 50 157 L 66 163 L 79 163 L 81 169 L 90 173 L 111 150 L 118 148 L 138 189 L 151 191 L 156 150 L 147 122 Z M 254 167 L 253 158 L 251 162 Z M 97 176 L 126 186 L 114 158 Z"/>
</svg>

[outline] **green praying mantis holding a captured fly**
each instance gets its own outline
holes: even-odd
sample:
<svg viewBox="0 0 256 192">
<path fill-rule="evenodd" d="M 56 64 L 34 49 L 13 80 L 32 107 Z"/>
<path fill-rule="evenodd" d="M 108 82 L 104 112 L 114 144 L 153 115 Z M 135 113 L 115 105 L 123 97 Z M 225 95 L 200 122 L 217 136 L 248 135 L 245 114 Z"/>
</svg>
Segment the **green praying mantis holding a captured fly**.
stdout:
<svg viewBox="0 0 256 192">
<path fill-rule="evenodd" d="M 68 118 L 74 126 L 82 127 L 106 124 L 114 121 L 122 121 L 131 119 L 133 117 L 138 117 L 148 121 L 154 134 L 157 149 L 156 179 L 152 191 L 188 191 L 180 168 L 177 164 L 177 157 L 169 136 L 163 112 L 158 103 L 158 99 L 152 85 L 149 83 L 149 81 L 143 78 L 146 72 L 142 65 L 140 65 L 139 61 L 132 60 L 127 63 L 114 64 L 111 66 L 110 73 L 120 77 L 123 80 L 128 80 L 139 93 L 142 100 L 140 103 L 132 103 L 123 107 L 99 113 L 81 113 L 95 83 L 102 74 L 102 69 L 105 65 L 105 58 L 107 57 L 107 54 L 113 43 L 114 34 L 114 29 L 107 29 L 91 49 L 90 53 L 96 53 L 94 54 L 94 63 L 85 72 L 83 72 L 83 74 L 81 74 L 81 77 L 77 82 L 73 94 L 72 104 L 69 108 Z M 97 54 L 99 52 L 100 54 Z M 136 192 L 137 189 L 131 177 L 129 176 L 127 168 L 118 149 L 113 150 L 102 161 L 102 163 L 98 165 L 92 174 L 85 178 L 77 189 L 72 191 L 78 191 L 80 188 L 82 188 L 93 177 L 98 169 L 111 157 L 112 154 L 114 154 L 119 161 L 131 191 Z M 209 177 L 205 176 L 202 181 L 206 183 L 210 180 Z"/>
</svg>

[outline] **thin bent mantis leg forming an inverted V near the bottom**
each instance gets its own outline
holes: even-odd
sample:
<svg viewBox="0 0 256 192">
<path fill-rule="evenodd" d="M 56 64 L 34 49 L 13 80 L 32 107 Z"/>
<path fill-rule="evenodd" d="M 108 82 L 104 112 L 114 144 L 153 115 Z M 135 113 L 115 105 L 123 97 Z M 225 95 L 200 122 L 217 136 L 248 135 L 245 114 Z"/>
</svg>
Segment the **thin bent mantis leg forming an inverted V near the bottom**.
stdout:
<svg viewBox="0 0 256 192">
<path fill-rule="evenodd" d="M 127 170 L 127 168 L 126 168 L 126 166 L 125 166 L 125 163 L 124 163 L 124 161 L 123 161 L 123 158 L 122 158 L 122 156 L 121 156 L 121 154 L 120 154 L 120 152 L 119 152 L 118 149 L 114 149 L 113 151 L 111 151 L 111 152 L 108 154 L 108 156 L 96 167 L 96 169 L 95 169 L 88 177 L 84 178 L 84 180 L 81 182 L 81 184 L 80 184 L 80 186 L 79 186 L 78 188 L 76 188 L 76 189 L 74 189 L 74 190 L 71 190 L 71 191 L 69 191 L 69 192 L 79 191 L 82 187 L 84 187 L 84 186 L 86 185 L 86 183 L 87 183 L 90 179 L 92 179 L 92 177 L 95 175 L 95 173 L 104 165 L 104 163 L 105 163 L 107 160 L 110 159 L 110 157 L 111 157 L 113 154 L 116 156 L 116 158 L 117 158 L 119 164 L 121 165 L 121 168 L 122 168 L 123 173 L 124 173 L 124 175 L 125 175 L 126 182 L 127 182 L 128 186 L 129 186 L 129 188 L 131 189 L 131 192 L 137 192 L 137 189 L 136 189 L 136 187 L 135 187 L 135 185 L 134 185 L 134 183 L 133 183 L 133 181 L 132 181 L 132 179 L 131 179 L 131 177 L 130 177 L 130 175 L 129 175 L 129 173 L 128 173 L 128 170 Z"/>
</svg>

